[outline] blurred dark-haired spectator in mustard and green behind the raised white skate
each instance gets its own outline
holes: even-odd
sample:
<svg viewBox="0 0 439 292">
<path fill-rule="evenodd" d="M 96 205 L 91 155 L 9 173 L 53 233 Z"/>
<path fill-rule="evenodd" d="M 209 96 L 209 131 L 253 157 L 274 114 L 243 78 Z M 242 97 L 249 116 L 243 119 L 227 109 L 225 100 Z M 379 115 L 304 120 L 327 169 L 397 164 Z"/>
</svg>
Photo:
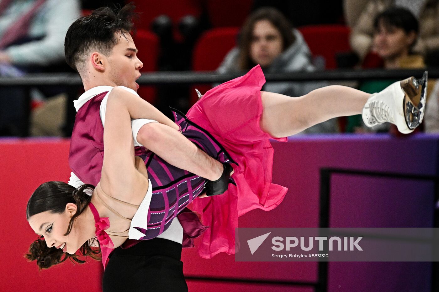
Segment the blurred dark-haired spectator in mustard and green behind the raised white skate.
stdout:
<svg viewBox="0 0 439 292">
<path fill-rule="evenodd" d="M 424 57 L 414 52 L 419 24 L 416 17 L 404 8 L 389 8 L 374 19 L 373 51 L 384 60 L 385 69 L 421 69 L 425 67 Z M 365 81 L 360 86 L 361 91 L 368 93 L 379 92 L 396 80 Z M 430 80 L 428 89 L 433 88 L 434 81 Z M 428 92 L 429 93 L 429 92 Z M 427 106 L 428 107 L 428 106 Z M 373 129 L 364 125 L 361 116 L 349 116 L 346 132 L 387 132 L 391 129 L 389 123 L 381 124 Z M 396 133 L 393 129 L 392 132 Z"/>
</svg>

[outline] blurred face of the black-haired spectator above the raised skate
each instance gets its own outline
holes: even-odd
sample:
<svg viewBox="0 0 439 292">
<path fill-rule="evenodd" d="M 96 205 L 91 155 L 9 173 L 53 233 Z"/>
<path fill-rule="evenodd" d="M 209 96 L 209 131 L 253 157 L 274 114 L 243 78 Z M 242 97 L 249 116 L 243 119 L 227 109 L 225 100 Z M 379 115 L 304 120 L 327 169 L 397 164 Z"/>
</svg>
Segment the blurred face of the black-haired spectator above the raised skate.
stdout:
<svg viewBox="0 0 439 292">
<path fill-rule="evenodd" d="M 415 37 L 414 32 L 407 34 L 402 28 L 380 23 L 374 33 L 374 51 L 384 60 L 405 56 Z"/>
</svg>

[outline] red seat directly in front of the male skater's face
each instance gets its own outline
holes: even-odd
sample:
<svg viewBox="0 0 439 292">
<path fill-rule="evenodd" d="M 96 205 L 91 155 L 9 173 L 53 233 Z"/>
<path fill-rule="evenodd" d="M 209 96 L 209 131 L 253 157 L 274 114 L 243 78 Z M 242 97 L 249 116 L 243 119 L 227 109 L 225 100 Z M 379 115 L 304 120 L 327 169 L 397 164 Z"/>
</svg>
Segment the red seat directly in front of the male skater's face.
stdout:
<svg viewBox="0 0 439 292">
<path fill-rule="evenodd" d="M 139 29 L 133 37 L 136 47 L 139 50 L 137 56 L 143 63 L 140 72 L 151 72 L 157 70 L 158 60 L 158 38 L 157 36 L 146 30 Z M 152 86 L 140 86 L 137 93 L 144 100 L 154 103 L 155 101 L 155 88 Z"/>
</svg>

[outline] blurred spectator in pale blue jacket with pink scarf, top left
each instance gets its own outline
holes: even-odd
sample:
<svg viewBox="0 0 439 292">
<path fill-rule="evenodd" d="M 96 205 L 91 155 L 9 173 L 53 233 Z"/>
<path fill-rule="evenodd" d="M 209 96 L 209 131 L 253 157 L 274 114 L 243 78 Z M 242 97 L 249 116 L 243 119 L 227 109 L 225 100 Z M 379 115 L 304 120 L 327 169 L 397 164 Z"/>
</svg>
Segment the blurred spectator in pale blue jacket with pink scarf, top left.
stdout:
<svg viewBox="0 0 439 292">
<path fill-rule="evenodd" d="M 64 37 L 79 15 L 78 0 L 0 0 L 0 76 L 67 70 Z M 62 92 L 39 89 L 47 96 Z M 0 135 L 21 134 L 25 94 L 24 88 L 0 89 Z"/>
</svg>

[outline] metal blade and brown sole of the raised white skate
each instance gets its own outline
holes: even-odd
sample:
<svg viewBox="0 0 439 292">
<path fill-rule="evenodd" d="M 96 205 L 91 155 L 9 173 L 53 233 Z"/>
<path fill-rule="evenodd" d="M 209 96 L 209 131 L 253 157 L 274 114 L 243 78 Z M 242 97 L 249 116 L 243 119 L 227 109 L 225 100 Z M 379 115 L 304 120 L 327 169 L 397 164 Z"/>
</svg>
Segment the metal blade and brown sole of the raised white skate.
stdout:
<svg viewBox="0 0 439 292">
<path fill-rule="evenodd" d="M 415 77 L 401 81 L 404 91 L 404 117 L 407 127 L 414 130 L 422 123 L 424 118 L 425 100 L 427 98 L 428 71 L 424 72 L 421 79 Z"/>
</svg>

